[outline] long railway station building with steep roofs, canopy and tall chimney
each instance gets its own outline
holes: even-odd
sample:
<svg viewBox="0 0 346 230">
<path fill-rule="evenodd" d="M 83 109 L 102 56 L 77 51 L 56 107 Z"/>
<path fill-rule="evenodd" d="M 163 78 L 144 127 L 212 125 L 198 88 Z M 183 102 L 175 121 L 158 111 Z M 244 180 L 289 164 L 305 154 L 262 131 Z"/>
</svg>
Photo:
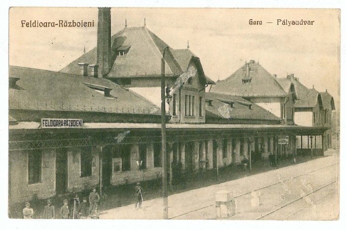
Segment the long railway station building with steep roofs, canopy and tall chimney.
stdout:
<svg viewBox="0 0 346 230">
<path fill-rule="evenodd" d="M 161 111 L 131 87 L 158 87 L 163 70 L 172 96 L 165 115 L 171 180 L 179 161 L 184 173 L 203 173 L 238 164 L 252 151 L 260 158 L 292 155 L 297 136 L 329 128 L 295 124 L 298 96 L 290 79 L 281 86 L 265 73 L 277 91 L 232 94 L 205 76 L 189 49 L 166 47 L 145 26 L 111 36 L 110 9 L 100 8 L 97 47 L 60 72 L 10 66 L 9 202 L 161 178 Z M 252 61 L 239 70 L 241 84 L 256 82 L 256 68 L 265 72 Z M 42 119 L 83 125 L 43 127 Z"/>
</svg>

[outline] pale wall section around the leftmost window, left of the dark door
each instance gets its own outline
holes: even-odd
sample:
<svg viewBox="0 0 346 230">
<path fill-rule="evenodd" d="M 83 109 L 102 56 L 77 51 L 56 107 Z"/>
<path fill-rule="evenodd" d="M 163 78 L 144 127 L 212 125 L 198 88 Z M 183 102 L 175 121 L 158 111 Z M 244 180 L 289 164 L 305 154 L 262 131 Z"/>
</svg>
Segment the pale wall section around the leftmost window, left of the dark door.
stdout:
<svg viewBox="0 0 346 230">
<path fill-rule="evenodd" d="M 28 153 L 13 151 L 9 154 L 10 203 L 55 195 L 55 150 L 42 150 L 41 182 L 36 184 L 28 183 Z"/>
</svg>

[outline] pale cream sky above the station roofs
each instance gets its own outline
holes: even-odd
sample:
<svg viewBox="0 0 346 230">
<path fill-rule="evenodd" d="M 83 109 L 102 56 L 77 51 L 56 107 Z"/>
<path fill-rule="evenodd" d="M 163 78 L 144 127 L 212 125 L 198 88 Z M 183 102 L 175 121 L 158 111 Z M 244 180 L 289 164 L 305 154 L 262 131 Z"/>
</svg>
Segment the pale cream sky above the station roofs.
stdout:
<svg viewBox="0 0 346 230">
<path fill-rule="evenodd" d="M 97 13 L 89 8 L 11 8 L 9 65 L 59 71 L 96 46 Z M 295 74 L 308 88 L 332 94 L 339 104 L 340 11 L 338 9 L 112 8 L 112 35 L 146 27 L 173 49 L 186 48 L 213 80 L 229 77 L 245 61 L 259 62 L 278 77 Z M 249 20 L 262 21 L 250 25 Z M 285 19 L 313 25 L 277 25 Z M 37 20 L 94 21 L 90 28 L 26 28 Z M 272 23 L 266 23 L 272 22 Z"/>
</svg>

